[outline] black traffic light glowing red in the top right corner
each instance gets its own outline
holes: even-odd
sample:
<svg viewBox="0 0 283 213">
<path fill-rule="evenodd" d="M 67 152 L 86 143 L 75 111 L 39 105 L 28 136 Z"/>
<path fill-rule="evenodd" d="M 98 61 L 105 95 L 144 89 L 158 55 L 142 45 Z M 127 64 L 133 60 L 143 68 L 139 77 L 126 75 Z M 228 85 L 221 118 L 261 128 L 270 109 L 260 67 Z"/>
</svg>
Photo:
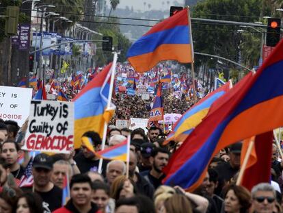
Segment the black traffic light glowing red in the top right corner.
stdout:
<svg viewBox="0 0 283 213">
<path fill-rule="evenodd" d="M 280 40 L 280 18 L 268 18 L 267 23 L 267 46 L 275 47 Z"/>
</svg>

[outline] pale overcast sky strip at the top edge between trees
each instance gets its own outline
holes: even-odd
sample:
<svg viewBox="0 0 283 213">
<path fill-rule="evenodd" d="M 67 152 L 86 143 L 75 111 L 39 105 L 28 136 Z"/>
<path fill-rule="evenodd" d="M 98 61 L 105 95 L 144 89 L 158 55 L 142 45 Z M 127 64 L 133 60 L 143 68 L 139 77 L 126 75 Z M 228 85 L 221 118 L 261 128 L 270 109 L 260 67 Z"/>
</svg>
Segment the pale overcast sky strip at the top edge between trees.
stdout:
<svg viewBox="0 0 283 213">
<path fill-rule="evenodd" d="M 134 10 L 148 10 L 148 3 L 151 5 L 151 9 L 160 10 L 160 9 L 167 9 L 170 6 L 174 6 L 173 2 L 178 1 L 179 3 L 184 3 L 184 0 L 170 0 L 169 6 L 167 5 L 167 0 L 120 0 L 118 8 L 125 8 L 126 5 L 131 8 L 133 6 Z M 146 7 L 144 7 L 144 2 L 146 2 Z M 164 2 L 164 5 L 162 4 Z M 107 1 L 109 5 L 109 0 Z M 168 9 L 169 10 L 169 9 Z"/>
</svg>

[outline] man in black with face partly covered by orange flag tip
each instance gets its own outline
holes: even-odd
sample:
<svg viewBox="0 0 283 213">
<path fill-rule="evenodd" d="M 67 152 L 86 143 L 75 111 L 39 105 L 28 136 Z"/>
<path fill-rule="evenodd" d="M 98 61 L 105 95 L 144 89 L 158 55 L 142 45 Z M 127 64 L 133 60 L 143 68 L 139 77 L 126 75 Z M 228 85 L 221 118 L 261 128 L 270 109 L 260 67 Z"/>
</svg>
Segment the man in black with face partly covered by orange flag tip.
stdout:
<svg viewBox="0 0 283 213">
<path fill-rule="evenodd" d="M 101 145 L 101 139 L 100 136 L 97 132 L 95 131 L 87 131 L 83 136 L 91 138 L 94 149 L 96 151 L 100 150 L 100 145 Z M 92 151 L 89 151 L 85 145 L 82 145 L 82 151 L 79 152 L 74 160 L 77 163 L 77 166 L 81 173 L 86 173 L 88 171 L 98 171 L 98 165 L 99 165 L 99 157 L 94 155 Z M 102 165 L 102 174 L 105 176 L 105 169 L 106 165 L 109 162 L 109 160 L 103 160 L 103 165 Z"/>
</svg>

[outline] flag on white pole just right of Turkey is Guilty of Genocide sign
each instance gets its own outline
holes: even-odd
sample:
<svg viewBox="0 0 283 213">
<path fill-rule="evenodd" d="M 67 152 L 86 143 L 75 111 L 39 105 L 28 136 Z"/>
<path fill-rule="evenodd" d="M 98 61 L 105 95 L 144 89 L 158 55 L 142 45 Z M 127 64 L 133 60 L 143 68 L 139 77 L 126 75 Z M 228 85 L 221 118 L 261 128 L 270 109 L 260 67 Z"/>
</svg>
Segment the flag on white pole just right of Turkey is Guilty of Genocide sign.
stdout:
<svg viewBox="0 0 283 213">
<path fill-rule="evenodd" d="M 75 101 L 75 149 L 81 146 L 85 131 L 96 131 L 103 137 L 105 119 L 109 119 L 115 106 L 106 110 L 110 88 L 111 66 L 108 64 L 92 81 L 79 92 Z"/>
</svg>

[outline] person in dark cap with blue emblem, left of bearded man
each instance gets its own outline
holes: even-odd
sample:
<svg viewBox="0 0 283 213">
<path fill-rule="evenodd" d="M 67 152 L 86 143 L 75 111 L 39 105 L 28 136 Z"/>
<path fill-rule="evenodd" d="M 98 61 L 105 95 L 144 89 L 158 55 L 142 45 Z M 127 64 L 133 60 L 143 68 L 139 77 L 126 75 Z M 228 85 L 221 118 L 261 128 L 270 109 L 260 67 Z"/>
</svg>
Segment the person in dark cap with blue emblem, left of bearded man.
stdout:
<svg viewBox="0 0 283 213">
<path fill-rule="evenodd" d="M 139 172 L 149 171 L 151 169 L 150 155 L 153 149 L 156 148 L 151 142 L 144 142 L 140 147 L 140 163 L 137 165 Z"/>
</svg>

